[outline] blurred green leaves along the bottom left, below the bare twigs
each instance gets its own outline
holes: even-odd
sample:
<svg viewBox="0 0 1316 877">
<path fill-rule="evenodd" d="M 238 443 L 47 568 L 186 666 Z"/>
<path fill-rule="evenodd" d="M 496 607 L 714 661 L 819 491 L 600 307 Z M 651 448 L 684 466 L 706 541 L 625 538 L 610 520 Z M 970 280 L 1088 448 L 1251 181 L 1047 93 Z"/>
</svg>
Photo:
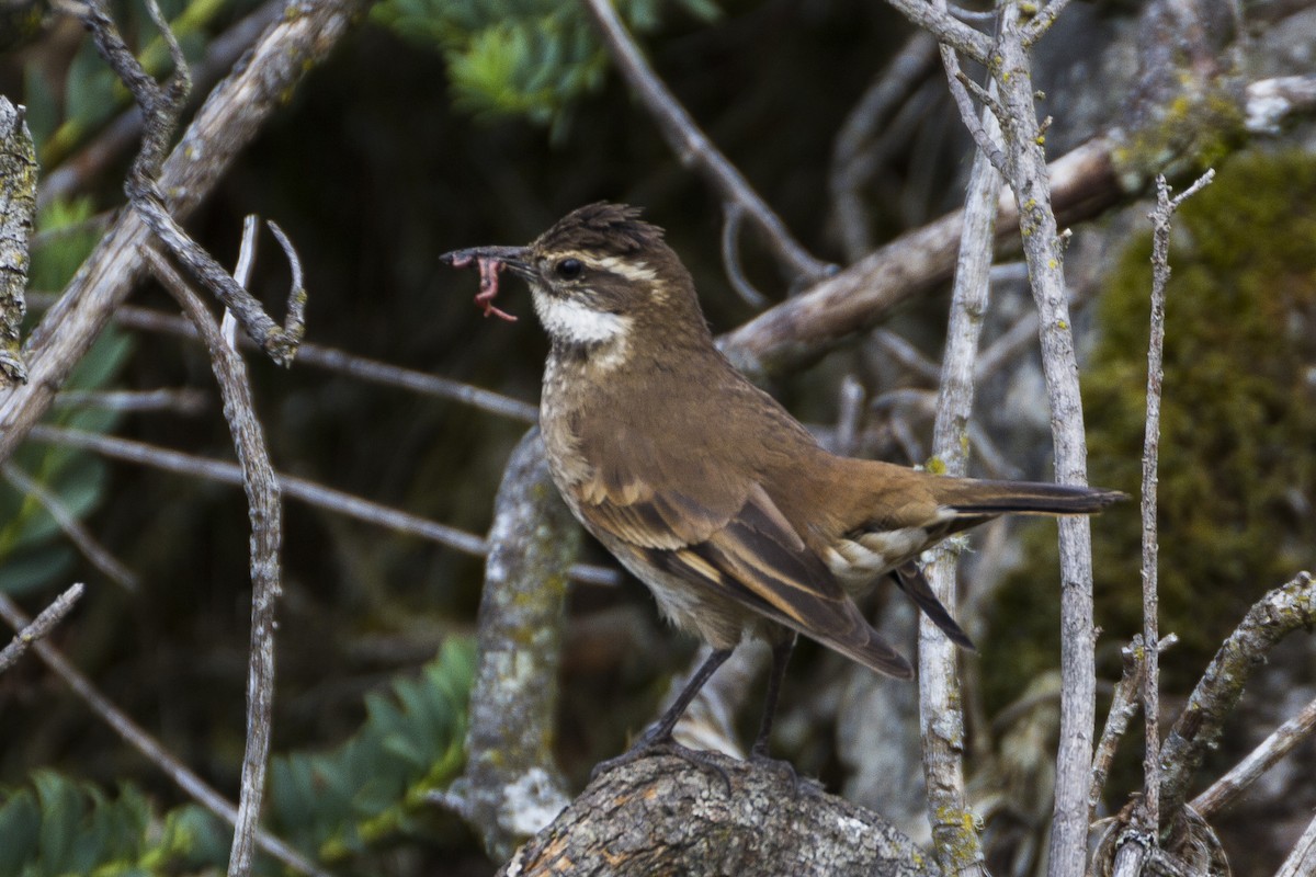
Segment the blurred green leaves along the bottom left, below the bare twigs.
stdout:
<svg viewBox="0 0 1316 877">
<path fill-rule="evenodd" d="M 326 753 L 271 760 L 267 826 L 322 861 L 424 835 L 426 793 L 462 767 L 475 646 L 450 639 L 416 678 L 366 698 L 365 724 Z M 117 798 L 51 770 L 0 790 L 0 877 L 218 873 L 232 830 L 195 805 L 155 817 L 125 785 Z"/>
</svg>

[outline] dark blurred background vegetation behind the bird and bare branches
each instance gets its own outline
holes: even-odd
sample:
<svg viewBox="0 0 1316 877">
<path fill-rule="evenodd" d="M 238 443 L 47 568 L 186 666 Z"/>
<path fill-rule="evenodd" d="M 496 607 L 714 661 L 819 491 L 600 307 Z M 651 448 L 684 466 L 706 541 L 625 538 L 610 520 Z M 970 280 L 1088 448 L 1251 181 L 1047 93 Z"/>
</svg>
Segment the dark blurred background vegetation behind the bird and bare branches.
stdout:
<svg viewBox="0 0 1316 877">
<path fill-rule="evenodd" d="M 132 149 L 87 170 L 86 150 L 126 110 L 126 93 L 75 21 L 39 3 L 13 5 L 22 14 L 7 12 L 0 21 L 0 92 L 28 107 L 42 178 L 75 178 L 41 201 L 34 322 L 122 204 Z M 167 53 L 143 8 L 136 0 L 111 5 L 146 67 L 167 72 Z M 253 0 L 162 5 L 193 62 L 247 16 L 270 11 Z M 1041 43 L 1038 75 L 1055 117 L 1051 154 L 1119 118 L 1138 5 L 1074 4 Z M 1287 72 L 1311 72 L 1300 68 L 1311 64 L 1300 47 L 1312 16 L 1304 4 L 1290 5 L 1284 14 L 1267 13 L 1254 51 L 1267 63 L 1299 66 Z M 625 0 L 620 11 L 667 85 L 797 238 L 820 258 L 855 258 L 854 237 L 829 196 L 838 131 L 855 124 L 861 97 L 909 39 L 908 25 L 882 4 L 842 0 Z M 854 193 L 870 247 L 962 197 L 969 142 L 940 71 L 929 66 L 913 78 L 901 107 L 863 145 L 873 167 Z M 1273 146 L 1227 158 L 1217 171 L 1216 184 L 1182 214 L 1171 255 L 1162 631 L 1184 643 L 1165 659 L 1167 709 L 1187 694 L 1248 605 L 1312 565 L 1316 544 L 1309 130 L 1299 126 Z M 533 404 L 546 344 L 528 297 L 508 284 L 503 306 L 522 320 L 484 322 L 470 302 L 474 280 L 442 271 L 436 256 L 526 242 L 569 209 L 600 199 L 642 205 L 667 229 L 716 331 L 754 314 L 726 280 L 716 195 L 667 150 L 612 70 L 583 7 L 386 0 L 291 95 L 188 226 L 232 260 L 245 214 L 278 221 L 305 267 L 309 342 Z M 1145 381 L 1144 213 L 1130 206 L 1079 226 L 1071 247 L 1092 479 L 1130 492 Z M 753 234 L 742 254 L 759 289 L 774 300 L 787 293 Z M 1017 268 L 1004 264 L 998 275 L 988 343 L 1030 306 Z M 287 283 L 280 259 L 261 260 L 254 289 L 262 300 L 282 301 Z M 149 284 L 132 304 L 175 310 Z M 884 330 L 936 363 L 945 310 L 946 293 L 937 291 L 903 308 Z M 979 454 L 988 460 L 982 471 L 1049 477 L 1036 354 L 1025 347 L 1013 360 L 980 389 L 984 450 L 1004 460 Z M 249 367 L 282 472 L 484 533 L 524 422 L 304 364 L 283 371 L 249 356 Z M 876 335 L 772 389 L 832 437 L 846 376 L 869 402 L 858 450 L 924 462 L 934 381 L 896 362 Z M 232 459 L 204 351 L 176 335 L 112 327 L 66 389 L 92 394 L 70 394 L 49 415 L 53 423 Z M 187 394 L 151 412 L 96 401 L 103 397 L 95 393 L 129 389 Z M 68 582 L 86 581 L 87 597 L 51 642 L 179 759 L 236 795 L 250 618 L 242 492 L 34 440 L 12 463 L 82 519 L 122 571 L 112 576 L 91 564 L 42 502 L 11 480 L 0 483 L 0 590 L 36 611 Z M 1095 525 L 1101 672 L 1112 681 L 1116 646 L 1140 630 L 1136 518 L 1128 506 Z M 1034 682 L 1058 664 L 1057 576 L 1048 571 L 1054 526 L 1019 529 L 1007 548 L 994 547 L 999 542 L 988 538 L 969 557 L 965 577 L 980 610 L 973 625 L 982 655 L 969 659 L 980 677 L 973 689 L 979 751 L 1000 744 L 992 717 L 1033 696 Z M 588 559 L 605 561 L 596 547 L 590 551 Z M 420 801 L 459 770 L 480 580 L 479 559 L 286 502 L 279 756 L 268 824 L 336 873 L 492 869 L 455 817 Z M 580 781 L 647 721 L 694 644 L 657 621 L 634 582 L 578 586 L 571 614 L 559 748 Z M 905 650 L 912 646 L 911 635 Z M 1234 753 L 1316 693 L 1309 643 L 1286 648 L 1270 681 L 1258 684 L 1261 697 L 1249 702 L 1249 718 L 1232 738 Z M 780 755 L 832 788 L 845 782 L 833 738 L 846 690 L 838 680 L 851 672 L 805 647 L 784 697 L 791 714 L 780 723 Z M 1040 703 L 1053 709 L 1054 698 Z M 1037 761 L 1054 751 L 1044 743 Z M 1137 760 L 1136 740 L 1125 755 L 1129 765 Z M 1313 770 L 1313 763 L 1308 746 L 1284 776 Z M 1217 767 L 1228 764 L 1221 755 Z M 1132 768 L 1121 782 L 1109 798 L 1116 807 L 1133 788 Z M 0 841 L 0 877 L 87 873 L 91 863 L 112 863 L 103 873 L 209 873 L 226 855 L 218 826 L 32 657 L 0 676 L 0 839 L 32 840 Z M 1236 857 L 1236 873 L 1274 869 L 1291 841 L 1290 823 L 1309 813 L 1313 794 L 1309 785 L 1303 792 L 1277 780 L 1250 810 L 1221 819 L 1227 836 L 1250 844 Z M 882 809 L 880 799 L 871 803 Z M 1267 834 L 1258 839 L 1262 822 Z"/>
</svg>

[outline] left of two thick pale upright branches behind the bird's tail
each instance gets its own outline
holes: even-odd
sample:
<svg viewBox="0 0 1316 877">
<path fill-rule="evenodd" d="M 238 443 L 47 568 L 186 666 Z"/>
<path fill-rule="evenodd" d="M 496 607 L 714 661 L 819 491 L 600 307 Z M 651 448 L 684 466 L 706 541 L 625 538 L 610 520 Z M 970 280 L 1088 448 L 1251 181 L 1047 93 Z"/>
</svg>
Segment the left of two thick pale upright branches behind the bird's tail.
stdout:
<svg viewBox="0 0 1316 877">
<path fill-rule="evenodd" d="M 992 117 L 984 135 L 999 137 Z M 996 149 L 988 142 L 986 149 Z M 996 226 L 996 193 L 1000 174 L 980 147 L 974 155 L 965 202 L 965 233 L 961 237 L 958 270 L 951 292 L 950 325 L 937 397 L 937 421 L 932 452 L 945 472 L 969 472 L 969 421 L 974 405 L 974 359 L 987 310 Z M 955 606 L 957 548 L 942 544 L 933 552 L 925 573 L 933 593 L 946 606 Z M 919 717 L 924 746 L 924 777 L 928 784 L 928 818 L 937 860 L 946 873 L 986 873 L 976 820 L 965 795 L 963 701 L 955 672 L 955 646 L 923 613 L 919 617 Z"/>
</svg>

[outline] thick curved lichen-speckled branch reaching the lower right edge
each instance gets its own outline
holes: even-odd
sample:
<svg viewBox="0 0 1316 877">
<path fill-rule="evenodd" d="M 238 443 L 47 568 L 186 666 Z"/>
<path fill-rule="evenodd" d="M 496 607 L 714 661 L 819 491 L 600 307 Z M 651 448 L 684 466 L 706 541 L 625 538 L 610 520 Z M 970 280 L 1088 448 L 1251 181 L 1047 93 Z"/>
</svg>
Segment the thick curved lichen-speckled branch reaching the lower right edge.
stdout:
<svg viewBox="0 0 1316 877">
<path fill-rule="evenodd" d="M 1254 667 L 1280 639 L 1316 623 L 1316 584 L 1308 572 L 1262 597 L 1211 660 L 1161 747 L 1161 811 L 1179 813 L 1188 784 L 1224 731 Z"/>
</svg>

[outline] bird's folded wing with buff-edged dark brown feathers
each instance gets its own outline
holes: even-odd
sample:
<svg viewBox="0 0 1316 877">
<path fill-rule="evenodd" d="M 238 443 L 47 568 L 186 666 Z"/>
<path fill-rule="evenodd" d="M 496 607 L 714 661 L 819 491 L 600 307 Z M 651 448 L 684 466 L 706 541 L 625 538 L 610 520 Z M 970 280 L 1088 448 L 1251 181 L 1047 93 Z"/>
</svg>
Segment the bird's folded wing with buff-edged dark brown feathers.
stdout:
<svg viewBox="0 0 1316 877">
<path fill-rule="evenodd" d="M 908 678 L 909 663 L 878 636 L 826 565 L 804 544 L 762 485 L 725 473 L 659 488 L 626 467 L 574 489 L 591 529 L 659 569 L 734 600 L 882 673 Z M 695 464 L 697 468 L 697 463 Z"/>
</svg>

